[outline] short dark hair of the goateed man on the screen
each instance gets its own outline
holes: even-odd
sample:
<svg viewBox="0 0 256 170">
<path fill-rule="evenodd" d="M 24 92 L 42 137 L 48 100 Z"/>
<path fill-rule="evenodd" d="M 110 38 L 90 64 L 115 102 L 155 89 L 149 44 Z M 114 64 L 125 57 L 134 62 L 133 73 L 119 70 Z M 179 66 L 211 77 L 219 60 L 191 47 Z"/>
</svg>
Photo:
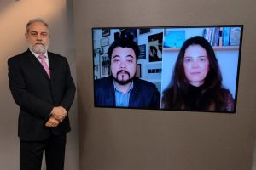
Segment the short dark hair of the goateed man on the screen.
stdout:
<svg viewBox="0 0 256 170">
<path fill-rule="evenodd" d="M 137 45 L 136 42 L 134 42 L 133 40 L 131 40 L 131 38 L 125 38 L 125 37 L 119 37 L 118 39 L 116 39 L 108 48 L 108 57 L 109 59 L 111 59 L 111 55 L 113 53 L 113 49 L 114 48 L 132 48 L 135 55 L 136 55 L 136 60 L 138 59 L 138 56 L 140 54 L 140 49 Z"/>
</svg>

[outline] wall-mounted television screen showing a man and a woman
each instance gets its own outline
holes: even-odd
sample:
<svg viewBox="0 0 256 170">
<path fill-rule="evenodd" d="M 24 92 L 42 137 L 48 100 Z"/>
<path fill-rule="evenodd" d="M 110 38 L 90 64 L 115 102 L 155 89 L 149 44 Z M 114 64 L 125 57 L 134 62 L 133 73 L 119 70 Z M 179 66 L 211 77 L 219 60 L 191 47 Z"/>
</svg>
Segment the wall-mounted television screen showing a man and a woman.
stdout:
<svg viewBox="0 0 256 170">
<path fill-rule="evenodd" d="M 92 28 L 94 105 L 236 113 L 242 29 Z"/>
</svg>

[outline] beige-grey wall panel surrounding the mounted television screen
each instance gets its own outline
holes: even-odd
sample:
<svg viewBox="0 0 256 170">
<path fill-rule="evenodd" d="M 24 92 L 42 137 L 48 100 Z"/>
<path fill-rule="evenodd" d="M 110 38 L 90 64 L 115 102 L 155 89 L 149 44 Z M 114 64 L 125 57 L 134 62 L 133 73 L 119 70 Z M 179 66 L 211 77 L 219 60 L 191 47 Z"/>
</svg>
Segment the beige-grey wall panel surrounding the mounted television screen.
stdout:
<svg viewBox="0 0 256 170">
<path fill-rule="evenodd" d="M 249 170 L 255 136 L 254 0 L 77 0 L 80 167 Z M 243 24 L 236 114 L 95 108 L 91 27 Z"/>
</svg>

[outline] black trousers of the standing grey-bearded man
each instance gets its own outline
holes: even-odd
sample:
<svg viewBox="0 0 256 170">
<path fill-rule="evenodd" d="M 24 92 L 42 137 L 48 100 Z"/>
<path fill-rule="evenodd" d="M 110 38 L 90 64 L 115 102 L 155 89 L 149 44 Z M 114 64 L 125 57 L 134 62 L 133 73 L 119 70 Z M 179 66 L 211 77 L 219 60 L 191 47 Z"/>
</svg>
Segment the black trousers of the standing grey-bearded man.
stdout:
<svg viewBox="0 0 256 170">
<path fill-rule="evenodd" d="M 43 141 L 20 141 L 20 170 L 41 170 L 43 153 L 47 170 L 63 170 L 66 134 Z"/>
</svg>

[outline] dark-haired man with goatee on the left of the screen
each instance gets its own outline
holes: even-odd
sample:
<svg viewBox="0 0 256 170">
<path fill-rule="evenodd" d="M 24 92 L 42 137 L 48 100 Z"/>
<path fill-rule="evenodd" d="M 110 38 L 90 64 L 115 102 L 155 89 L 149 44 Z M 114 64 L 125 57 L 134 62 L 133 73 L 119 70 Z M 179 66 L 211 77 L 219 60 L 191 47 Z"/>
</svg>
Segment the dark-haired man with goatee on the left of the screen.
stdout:
<svg viewBox="0 0 256 170">
<path fill-rule="evenodd" d="M 108 48 L 111 76 L 95 81 L 95 105 L 159 109 L 156 86 L 136 77 L 140 50 L 132 39 L 120 37 Z M 107 62 L 107 61 L 106 61 Z"/>
</svg>

